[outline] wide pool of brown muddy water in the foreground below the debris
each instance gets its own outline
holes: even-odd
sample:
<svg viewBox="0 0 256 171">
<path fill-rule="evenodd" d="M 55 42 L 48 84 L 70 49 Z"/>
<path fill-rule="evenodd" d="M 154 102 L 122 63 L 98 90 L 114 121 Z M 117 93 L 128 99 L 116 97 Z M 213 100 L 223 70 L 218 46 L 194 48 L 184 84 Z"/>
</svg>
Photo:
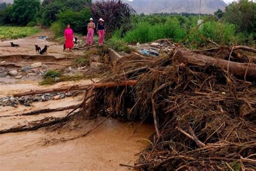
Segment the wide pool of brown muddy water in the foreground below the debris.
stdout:
<svg viewBox="0 0 256 171">
<path fill-rule="evenodd" d="M 1 170 L 127 170 L 133 165 L 153 127 L 109 119 L 86 137 L 61 142 L 90 130 L 103 118 L 85 122 L 76 130 L 38 130 L 0 135 Z"/>
</svg>

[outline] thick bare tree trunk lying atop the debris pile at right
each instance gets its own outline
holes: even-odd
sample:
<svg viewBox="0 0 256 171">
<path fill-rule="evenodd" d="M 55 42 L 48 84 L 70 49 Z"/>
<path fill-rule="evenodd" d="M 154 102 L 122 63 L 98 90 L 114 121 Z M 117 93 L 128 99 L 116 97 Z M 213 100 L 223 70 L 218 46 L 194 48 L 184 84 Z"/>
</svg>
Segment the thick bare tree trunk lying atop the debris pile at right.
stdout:
<svg viewBox="0 0 256 171">
<path fill-rule="evenodd" d="M 228 70 L 230 73 L 246 80 L 256 81 L 256 65 L 254 63 L 239 63 L 232 62 L 223 59 L 212 58 L 210 56 L 193 53 L 191 51 L 179 51 L 177 52 L 175 61 L 181 63 L 187 63 L 188 66 L 207 66 L 214 65 L 224 70 Z"/>
</svg>

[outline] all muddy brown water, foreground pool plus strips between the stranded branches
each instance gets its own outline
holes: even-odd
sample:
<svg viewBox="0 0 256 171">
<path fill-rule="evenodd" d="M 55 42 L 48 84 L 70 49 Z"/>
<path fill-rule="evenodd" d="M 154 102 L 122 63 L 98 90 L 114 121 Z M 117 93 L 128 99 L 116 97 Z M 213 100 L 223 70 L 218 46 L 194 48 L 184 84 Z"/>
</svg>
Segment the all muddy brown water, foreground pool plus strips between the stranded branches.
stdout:
<svg viewBox="0 0 256 171">
<path fill-rule="evenodd" d="M 63 82 L 50 87 L 66 84 L 90 83 Z M 0 85 L 1 90 L 6 85 Z M 22 91 L 25 87 L 42 88 L 36 84 L 12 84 L 6 94 Z M 64 117 L 71 110 L 43 113 L 32 116 L 13 116 L 39 109 L 55 109 L 76 105 L 83 101 L 83 95 L 58 101 L 35 102 L 30 107 L 18 108 L 0 106 L 0 129 L 28 125 L 45 117 Z M 3 117 L 8 116 L 8 117 Z M 63 127 L 52 131 L 43 128 L 37 131 L 0 134 L 0 170 L 127 170 L 120 163 L 133 165 L 138 159 L 135 154 L 147 145 L 147 139 L 154 129 L 151 125 L 122 123 L 108 119 L 86 137 L 63 142 L 63 139 L 79 136 L 101 122 L 104 118 L 84 120 L 79 127 Z"/>
</svg>

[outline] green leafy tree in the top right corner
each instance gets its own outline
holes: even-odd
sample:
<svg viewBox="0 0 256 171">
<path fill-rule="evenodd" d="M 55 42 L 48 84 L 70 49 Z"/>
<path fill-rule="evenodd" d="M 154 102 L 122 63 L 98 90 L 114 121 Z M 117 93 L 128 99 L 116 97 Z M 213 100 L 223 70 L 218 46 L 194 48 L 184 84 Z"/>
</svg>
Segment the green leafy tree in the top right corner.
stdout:
<svg viewBox="0 0 256 171">
<path fill-rule="evenodd" d="M 238 31 L 256 33 L 256 3 L 242 0 L 228 5 L 224 15 L 226 22 L 237 26 Z"/>
</svg>

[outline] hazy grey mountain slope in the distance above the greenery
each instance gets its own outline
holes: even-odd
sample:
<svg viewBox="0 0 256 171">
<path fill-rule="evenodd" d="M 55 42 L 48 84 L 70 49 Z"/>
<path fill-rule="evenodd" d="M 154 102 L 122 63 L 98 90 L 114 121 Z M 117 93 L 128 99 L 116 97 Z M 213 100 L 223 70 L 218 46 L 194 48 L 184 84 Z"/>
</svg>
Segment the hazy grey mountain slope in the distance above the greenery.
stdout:
<svg viewBox="0 0 256 171">
<path fill-rule="evenodd" d="M 188 12 L 199 13 L 199 0 L 125 0 L 137 13 Z M 224 10 L 223 0 L 201 0 L 201 13 Z"/>
</svg>

